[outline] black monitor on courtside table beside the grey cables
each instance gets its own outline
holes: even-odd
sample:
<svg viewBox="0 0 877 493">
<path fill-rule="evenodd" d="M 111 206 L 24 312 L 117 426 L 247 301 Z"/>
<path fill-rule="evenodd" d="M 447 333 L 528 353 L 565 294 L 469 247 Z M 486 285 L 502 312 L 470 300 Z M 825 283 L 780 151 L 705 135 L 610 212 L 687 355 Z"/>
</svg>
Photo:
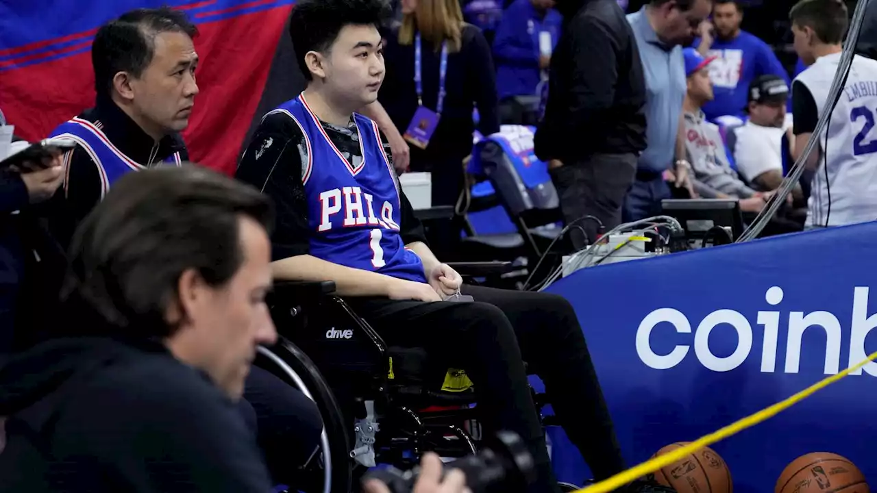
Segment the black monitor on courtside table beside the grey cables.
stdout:
<svg viewBox="0 0 877 493">
<path fill-rule="evenodd" d="M 679 221 L 688 241 L 695 243 L 695 247 L 708 242 L 730 243 L 743 234 L 743 214 L 736 198 L 666 199 L 661 205 L 665 215 Z"/>
</svg>

